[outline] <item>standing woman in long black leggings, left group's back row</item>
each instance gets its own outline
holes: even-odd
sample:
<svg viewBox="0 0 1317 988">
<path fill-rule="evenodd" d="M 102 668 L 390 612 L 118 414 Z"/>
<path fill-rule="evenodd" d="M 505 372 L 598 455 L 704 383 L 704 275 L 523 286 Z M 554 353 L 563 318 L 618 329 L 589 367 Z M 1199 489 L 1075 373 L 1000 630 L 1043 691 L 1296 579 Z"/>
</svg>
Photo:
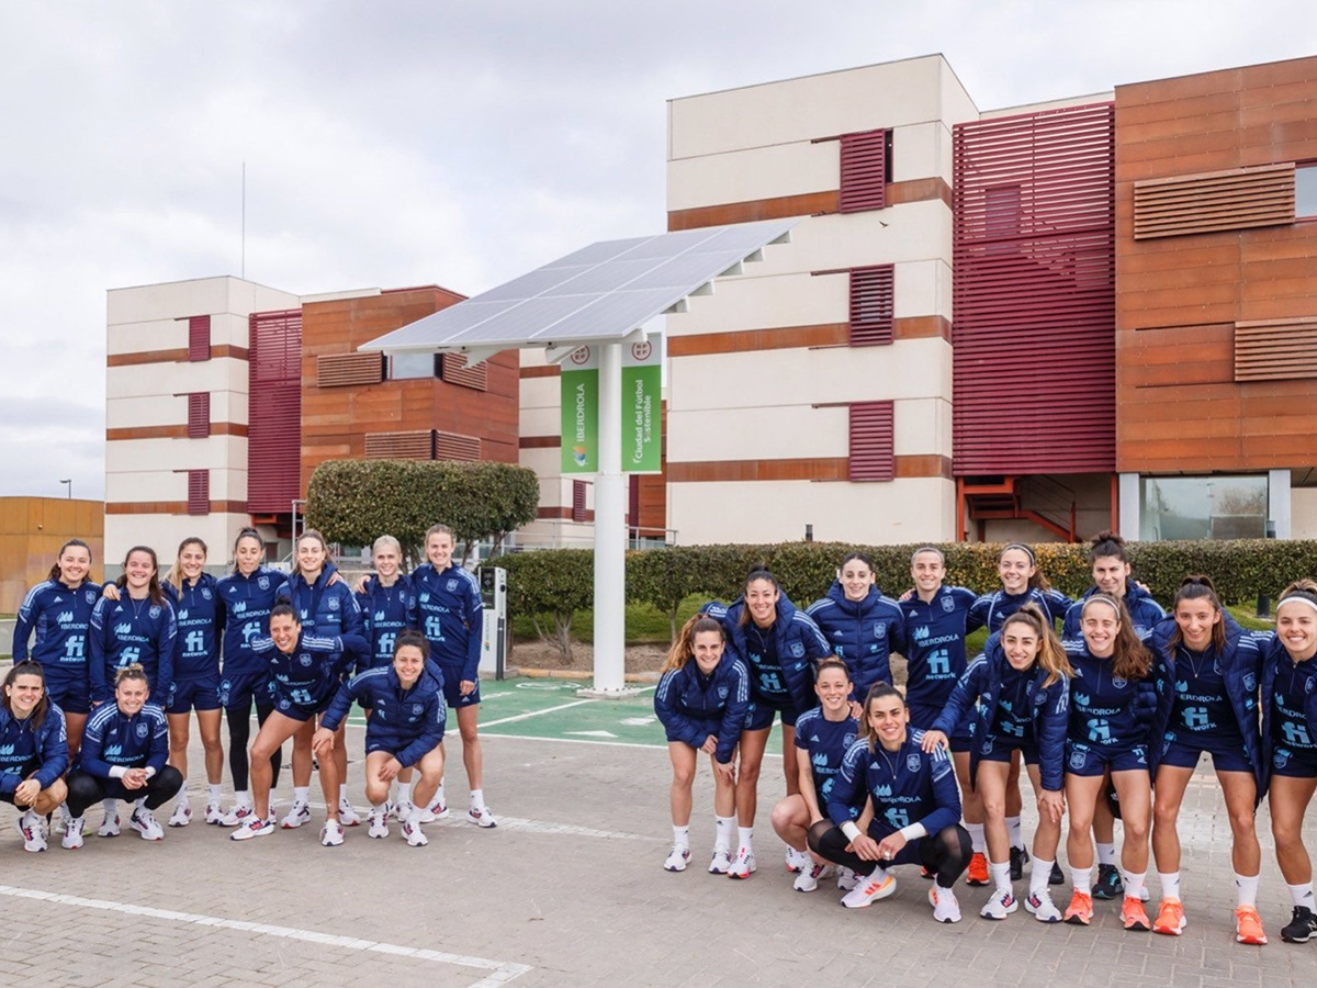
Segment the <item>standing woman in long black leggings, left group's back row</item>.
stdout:
<svg viewBox="0 0 1317 988">
<path fill-rule="evenodd" d="M 255 703 L 257 727 L 274 710 L 270 696 L 270 664 L 252 651 L 252 644 L 270 635 L 270 611 L 288 598 L 286 573 L 262 565 L 265 543 L 255 528 L 244 528 L 233 543 L 233 572 L 217 584 L 224 614 L 224 668 L 220 673 L 219 700 L 229 726 L 229 772 L 233 775 L 233 809 L 220 823 L 237 827 L 253 814 L 248 788 L 252 740 L 252 705 Z M 279 779 L 283 752 L 274 750 L 270 767 Z"/>
</svg>

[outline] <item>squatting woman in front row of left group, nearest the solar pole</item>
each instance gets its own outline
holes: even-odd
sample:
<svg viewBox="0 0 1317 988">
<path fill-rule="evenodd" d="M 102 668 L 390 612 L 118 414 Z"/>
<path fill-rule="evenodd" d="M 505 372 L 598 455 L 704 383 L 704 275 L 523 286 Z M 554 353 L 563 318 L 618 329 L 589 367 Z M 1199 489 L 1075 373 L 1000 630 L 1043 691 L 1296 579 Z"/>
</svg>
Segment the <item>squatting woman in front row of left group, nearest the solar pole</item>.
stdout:
<svg viewBox="0 0 1317 988">
<path fill-rule="evenodd" d="M 443 676 L 428 661 L 429 645 L 419 631 L 402 631 L 394 644 L 390 665 L 377 665 L 357 673 L 338 688 L 320 717 L 312 747 L 324 757 L 335 744 L 335 732 L 352 710 L 352 702 L 370 710 L 366 719 L 366 801 L 370 804 L 370 830 L 374 838 L 389 837 L 389 785 L 403 769 L 415 765 L 417 805 L 408 806 L 403 837 L 412 847 L 427 842 L 420 815 L 444 773 Z"/>
</svg>

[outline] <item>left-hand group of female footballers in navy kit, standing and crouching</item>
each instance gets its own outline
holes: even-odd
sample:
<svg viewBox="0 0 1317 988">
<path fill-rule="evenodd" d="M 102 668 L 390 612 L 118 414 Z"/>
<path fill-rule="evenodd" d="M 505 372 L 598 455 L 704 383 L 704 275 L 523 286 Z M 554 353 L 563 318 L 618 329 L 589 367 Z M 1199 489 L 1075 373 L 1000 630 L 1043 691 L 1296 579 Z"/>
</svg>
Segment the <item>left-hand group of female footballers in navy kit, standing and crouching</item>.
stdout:
<svg viewBox="0 0 1317 988">
<path fill-rule="evenodd" d="M 120 833 L 120 800 L 132 804 L 128 826 L 148 840 L 165 835 L 155 810 L 174 797 L 169 826 L 187 826 L 194 711 L 205 751 L 207 823 L 234 827 L 232 838 L 248 840 L 308 822 L 315 756 L 327 817 L 320 842 L 341 844 L 344 827 L 362 822 L 346 786 L 344 728 L 353 701 L 366 717 L 370 837 L 389 837 L 392 815 L 407 843 L 423 846 L 421 825 L 448 815 L 449 706 L 471 789 L 466 818 L 495 826 L 477 734 L 483 611 L 475 580 L 453 561 L 453 549 L 452 530 L 433 526 L 427 561 L 407 574 L 398 540 L 381 536 L 375 573 L 349 586 L 319 532 L 298 539 L 290 576 L 263 565 L 263 543 L 245 528 L 232 572 L 219 580 L 204 570 L 205 543 L 191 537 L 163 578 L 155 552 L 138 545 L 122 576 L 99 586 L 88 580 L 86 543 L 66 543 L 18 611 L 0 703 L 0 800 L 22 810 L 24 847 L 46 850 L 55 811 L 61 844 L 82 847 L 84 813 L 97 801 L 100 837 Z M 234 789 L 228 810 L 220 802 L 221 710 Z M 270 790 L 290 738 L 292 804 L 277 823 Z"/>
</svg>

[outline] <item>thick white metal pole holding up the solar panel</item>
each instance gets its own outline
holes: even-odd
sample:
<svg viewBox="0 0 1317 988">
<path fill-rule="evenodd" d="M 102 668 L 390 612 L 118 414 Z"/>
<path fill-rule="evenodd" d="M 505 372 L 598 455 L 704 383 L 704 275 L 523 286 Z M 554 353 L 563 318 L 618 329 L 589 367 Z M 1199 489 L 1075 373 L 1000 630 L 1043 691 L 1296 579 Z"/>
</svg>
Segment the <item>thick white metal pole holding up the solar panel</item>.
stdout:
<svg viewBox="0 0 1317 988">
<path fill-rule="evenodd" d="M 627 530 L 622 473 L 622 344 L 599 346 L 599 473 L 594 481 L 594 693 L 626 690 Z"/>
</svg>

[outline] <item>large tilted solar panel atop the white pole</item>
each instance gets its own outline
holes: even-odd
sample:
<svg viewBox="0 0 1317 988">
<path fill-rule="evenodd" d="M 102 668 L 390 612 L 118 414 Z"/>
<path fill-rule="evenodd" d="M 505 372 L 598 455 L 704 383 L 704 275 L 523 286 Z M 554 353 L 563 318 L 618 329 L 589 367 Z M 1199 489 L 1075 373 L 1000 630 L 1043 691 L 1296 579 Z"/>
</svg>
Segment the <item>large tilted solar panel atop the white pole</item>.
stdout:
<svg viewBox="0 0 1317 988">
<path fill-rule="evenodd" d="M 798 220 L 590 244 L 358 349 L 389 353 L 512 349 L 620 340 Z"/>
</svg>

